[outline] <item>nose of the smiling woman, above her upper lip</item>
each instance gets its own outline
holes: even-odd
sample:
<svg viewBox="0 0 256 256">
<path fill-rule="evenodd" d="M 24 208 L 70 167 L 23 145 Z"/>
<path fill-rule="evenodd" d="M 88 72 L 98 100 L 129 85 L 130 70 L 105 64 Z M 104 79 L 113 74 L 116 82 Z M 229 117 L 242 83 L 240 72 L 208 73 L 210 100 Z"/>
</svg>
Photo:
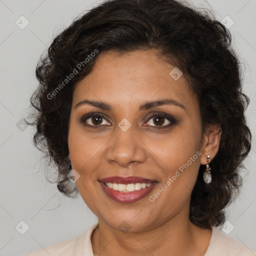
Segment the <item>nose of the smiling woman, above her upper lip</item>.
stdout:
<svg viewBox="0 0 256 256">
<path fill-rule="evenodd" d="M 106 151 L 106 159 L 109 162 L 127 167 L 145 161 L 146 146 L 141 141 L 139 132 L 135 134 L 134 131 L 132 125 L 126 131 L 116 127 L 115 135 L 109 141 Z"/>
</svg>

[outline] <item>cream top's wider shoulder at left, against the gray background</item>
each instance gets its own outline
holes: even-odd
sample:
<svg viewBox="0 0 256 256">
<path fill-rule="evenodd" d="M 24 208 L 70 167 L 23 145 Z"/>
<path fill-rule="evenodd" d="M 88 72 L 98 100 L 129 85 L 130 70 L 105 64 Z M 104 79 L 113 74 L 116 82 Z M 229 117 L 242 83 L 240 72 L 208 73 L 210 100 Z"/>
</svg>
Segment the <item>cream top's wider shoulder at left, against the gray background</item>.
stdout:
<svg viewBox="0 0 256 256">
<path fill-rule="evenodd" d="M 84 233 L 72 239 L 57 242 L 40 249 L 30 251 L 21 256 L 73 256 L 73 255 L 91 255 L 92 248 L 90 235 L 97 226 L 93 224 Z M 86 254 L 85 254 L 86 253 Z"/>
</svg>

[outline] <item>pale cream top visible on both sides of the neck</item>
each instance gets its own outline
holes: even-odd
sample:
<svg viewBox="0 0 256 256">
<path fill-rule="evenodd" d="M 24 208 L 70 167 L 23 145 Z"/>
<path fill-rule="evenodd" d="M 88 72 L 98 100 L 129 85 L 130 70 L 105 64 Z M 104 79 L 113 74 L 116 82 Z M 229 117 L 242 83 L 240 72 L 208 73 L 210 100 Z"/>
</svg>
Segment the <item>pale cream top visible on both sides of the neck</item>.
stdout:
<svg viewBox="0 0 256 256">
<path fill-rule="evenodd" d="M 21 256 L 93 256 L 90 236 L 98 223 L 72 239 L 57 242 L 44 248 L 33 250 Z M 95 254 L 97 255 L 97 254 Z M 209 246 L 204 256 L 255 256 L 256 252 L 242 243 L 212 227 Z"/>
</svg>

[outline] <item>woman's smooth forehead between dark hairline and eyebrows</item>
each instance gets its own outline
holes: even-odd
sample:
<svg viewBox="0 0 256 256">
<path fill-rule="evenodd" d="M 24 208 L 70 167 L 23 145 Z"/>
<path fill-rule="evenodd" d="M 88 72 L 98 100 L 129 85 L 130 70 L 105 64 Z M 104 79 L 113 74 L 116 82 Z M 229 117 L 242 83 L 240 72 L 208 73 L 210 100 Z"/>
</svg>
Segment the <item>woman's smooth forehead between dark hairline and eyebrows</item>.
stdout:
<svg viewBox="0 0 256 256">
<path fill-rule="evenodd" d="M 101 53 L 92 71 L 76 85 L 73 104 L 83 99 L 108 102 L 111 105 L 137 105 L 143 101 L 170 97 L 192 107 L 195 96 L 183 77 L 169 74 L 174 65 L 164 62 L 155 51 L 136 50 L 124 54 Z M 172 73 L 171 73 L 172 74 Z"/>
</svg>

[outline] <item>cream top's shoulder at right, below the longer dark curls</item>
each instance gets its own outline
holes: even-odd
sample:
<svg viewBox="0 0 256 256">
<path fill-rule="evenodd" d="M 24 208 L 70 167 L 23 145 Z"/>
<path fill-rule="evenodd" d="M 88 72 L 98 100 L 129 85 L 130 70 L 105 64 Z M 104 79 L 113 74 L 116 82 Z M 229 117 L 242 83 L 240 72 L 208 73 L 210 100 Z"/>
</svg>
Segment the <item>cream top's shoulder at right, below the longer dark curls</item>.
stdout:
<svg viewBox="0 0 256 256">
<path fill-rule="evenodd" d="M 243 243 L 221 233 L 216 227 L 212 227 L 212 235 L 208 249 L 204 256 L 255 256 L 256 253 Z"/>
</svg>

